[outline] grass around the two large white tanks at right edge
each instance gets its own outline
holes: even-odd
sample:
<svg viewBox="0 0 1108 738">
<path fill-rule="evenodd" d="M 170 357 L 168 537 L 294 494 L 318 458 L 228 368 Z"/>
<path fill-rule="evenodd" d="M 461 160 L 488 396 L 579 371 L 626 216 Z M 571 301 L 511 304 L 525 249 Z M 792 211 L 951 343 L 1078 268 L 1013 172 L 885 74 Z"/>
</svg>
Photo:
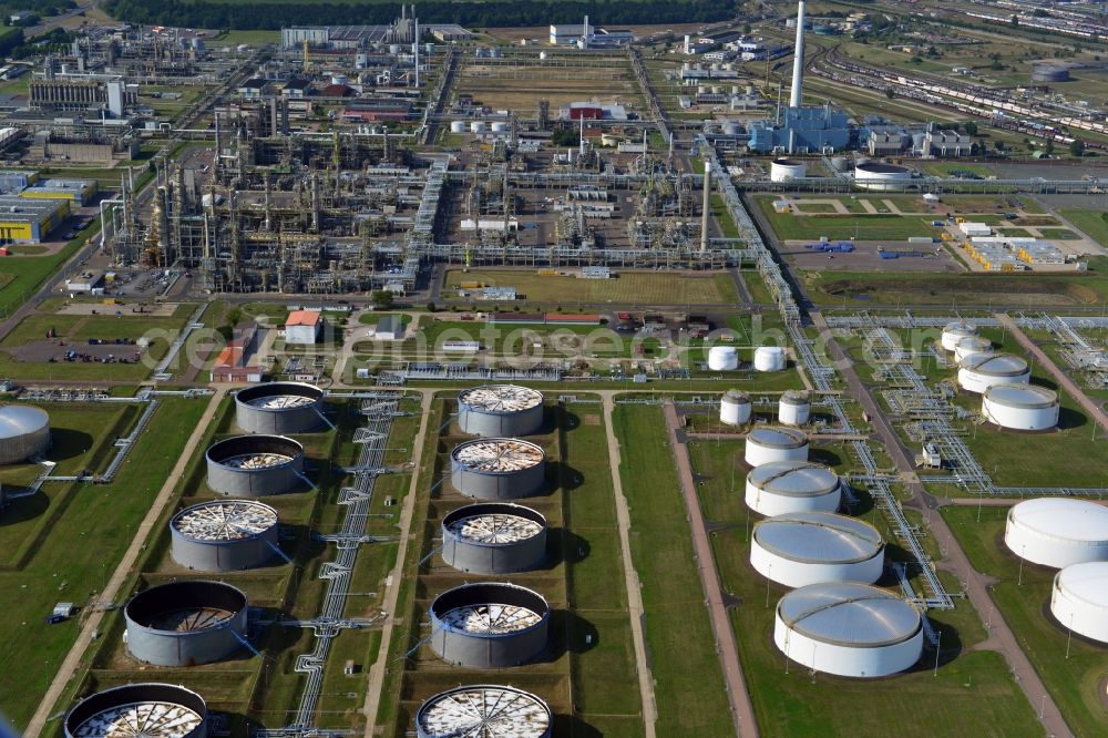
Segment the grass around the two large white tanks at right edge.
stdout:
<svg viewBox="0 0 1108 738">
<path fill-rule="evenodd" d="M 1070 729 L 1080 738 L 1102 736 L 1108 709 L 1099 693 L 1108 652 L 1075 636 L 1066 657 L 1067 633 L 1048 615 L 1055 571 L 1024 564 L 1020 575 L 1018 560 L 1002 540 L 1007 508 L 984 508 L 978 513 L 973 506 L 946 506 L 941 512 L 974 568 L 998 580 L 991 586 L 993 601 Z"/>
</svg>

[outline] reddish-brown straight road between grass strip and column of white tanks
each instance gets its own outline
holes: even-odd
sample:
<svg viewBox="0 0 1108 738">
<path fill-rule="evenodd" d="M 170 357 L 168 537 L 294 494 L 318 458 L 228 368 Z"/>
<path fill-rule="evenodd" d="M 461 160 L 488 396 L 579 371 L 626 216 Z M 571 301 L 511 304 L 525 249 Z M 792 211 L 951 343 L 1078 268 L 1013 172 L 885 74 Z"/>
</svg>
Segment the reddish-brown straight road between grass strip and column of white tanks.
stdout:
<svg viewBox="0 0 1108 738">
<path fill-rule="evenodd" d="M 700 573 L 700 584 L 708 598 L 708 613 L 711 616 L 711 629 L 716 635 L 716 648 L 719 662 L 724 667 L 724 680 L 727 683 L 727 694 L 731 700 L 731 717 L 735 728 L 743 738 L 758 735 L 758 724 L 755 721 L 753 705 L 747 691 L 747 683 L 742 678 L 742 665 L 739 664 L 739 649 L 735 642 L 735 631 L 727 617 L 727 605 L 724 603 L 724 591 L 719 585 L 719 574 L 716 571 L 716 558 L 711 554 L 708 541 L 708 529 L 705 526 L 700 500 L 696 494 L 696 481 L 693 478 L 693 464 L 689 461 L 688 447 L 680 439 L 678 429 L 677 406 L 671 401 L 663 404 L 666 416 L 666 429 L 669 431 L 669 444 L 677 461 L 677 476 L 681 482 L 681 493 L 685 496 L 685 509 L 688 511 L 689 525 L 693 529 L 693 545 L 696 549 L 697 571 Z"/>
</svg>

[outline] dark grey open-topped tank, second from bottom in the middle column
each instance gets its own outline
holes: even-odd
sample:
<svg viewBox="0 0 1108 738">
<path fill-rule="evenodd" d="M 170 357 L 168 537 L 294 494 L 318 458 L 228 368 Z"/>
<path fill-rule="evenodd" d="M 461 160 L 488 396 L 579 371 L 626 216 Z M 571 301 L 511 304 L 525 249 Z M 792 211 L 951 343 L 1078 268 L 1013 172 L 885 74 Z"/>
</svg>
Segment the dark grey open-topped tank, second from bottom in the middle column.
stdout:
<svg viewBox="0 0 1108 738">
<path fill-rule="evenodd" d="M 546 650 L 550 614 L 543 596 L 525 587 L 463 584 L 431 603 L 431 648 L 470 668 L 526 664 Z"/>
</svg>

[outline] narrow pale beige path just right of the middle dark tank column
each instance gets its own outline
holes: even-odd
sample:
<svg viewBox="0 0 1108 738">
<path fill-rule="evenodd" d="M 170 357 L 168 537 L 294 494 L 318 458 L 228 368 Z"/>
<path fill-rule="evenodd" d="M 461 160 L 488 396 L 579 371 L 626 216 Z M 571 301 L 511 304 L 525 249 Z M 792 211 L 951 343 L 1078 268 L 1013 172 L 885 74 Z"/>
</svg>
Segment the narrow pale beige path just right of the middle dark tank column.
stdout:
<svg viewBox="0 0 1108 738">
<path fill-rule="evenodd" d="M 650 659 L 646 655 L 646 635 L 643 632 L 643 619 L 646 608 L 643 606 L 643 588 L 635 571 L 630 555 L 630 510 L 627 496 L 623 491 L 623 480 L 619 476 L 619 440 L 616 438 L 612 411 L 615 409 L 613 392 L 604 392 L 604 431 L 608 442 L 608 467 L 612 470 L 612 489 L 616 495 L 616 524 L 619 526 L 619 553 L 623 556 L 624 584 L 627 588 L 627 611 L 630 614 L 630 634 L 635 644 L 635 663 L 638 672 L 638 691 L 643 700 L 643 721 L 646 727 L 646 738 L 655 738 L 655 724 L 658 720 L 658 703 L 654 695 L 654 676 L 650 670 Z"/>
</svg>

